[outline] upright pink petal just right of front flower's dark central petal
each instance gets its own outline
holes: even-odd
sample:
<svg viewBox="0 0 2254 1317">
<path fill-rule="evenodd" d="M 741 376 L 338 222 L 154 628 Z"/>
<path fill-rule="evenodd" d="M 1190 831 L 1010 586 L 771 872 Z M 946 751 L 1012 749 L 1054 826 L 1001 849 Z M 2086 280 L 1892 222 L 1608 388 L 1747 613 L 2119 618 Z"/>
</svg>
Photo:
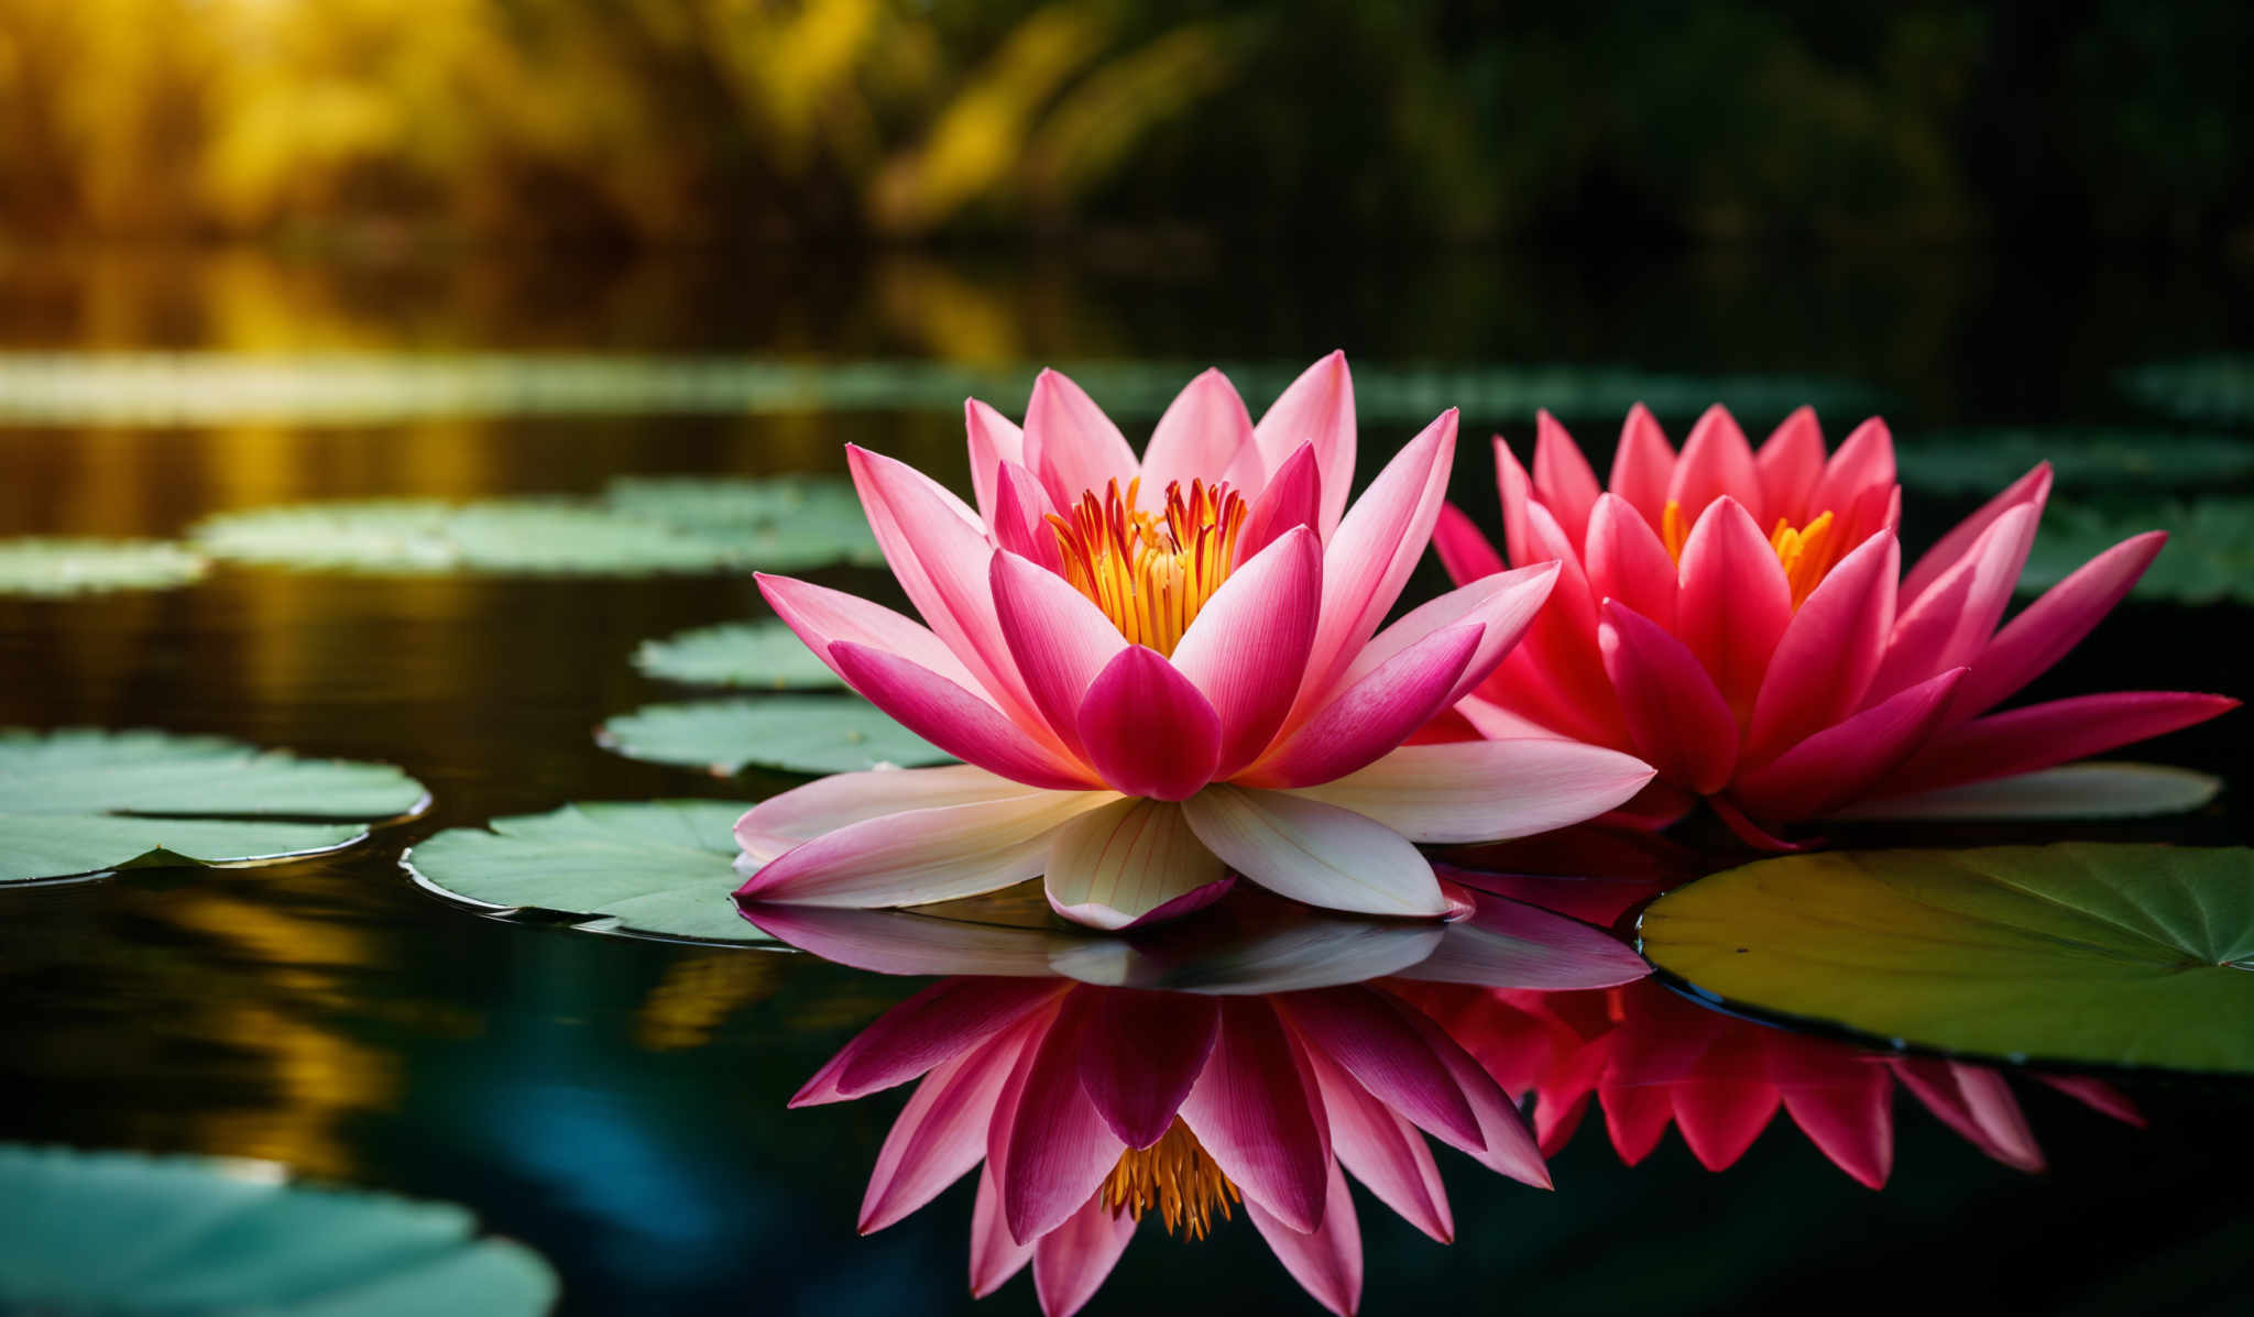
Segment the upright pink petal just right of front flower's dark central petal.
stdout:
<svg viewBox="0 0 2254 1317">
<path fill-rule="evenodd" d="M 1217 778 L 1235 776 L 1276 737 L 1307 674 L 1323 602 L 1323 546 L 1296 525 L 1240 566 L 1199 609 L 1174 670 L 1222 719 Z"/>
</svg>

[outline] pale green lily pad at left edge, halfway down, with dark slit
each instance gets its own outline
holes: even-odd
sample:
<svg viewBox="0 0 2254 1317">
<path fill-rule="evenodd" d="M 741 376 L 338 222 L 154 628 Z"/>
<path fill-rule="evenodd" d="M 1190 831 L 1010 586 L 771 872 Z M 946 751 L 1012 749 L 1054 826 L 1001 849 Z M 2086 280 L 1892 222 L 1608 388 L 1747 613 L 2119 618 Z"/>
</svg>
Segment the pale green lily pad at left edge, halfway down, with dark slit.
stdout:
<svg viewBox="0 0 2254 1317">
<path fill-rule="evenodd" d="M 340 850 L 428 796 L 388 764 L 160 731 L 0 731 L 0 882 Z"/>
</svg>

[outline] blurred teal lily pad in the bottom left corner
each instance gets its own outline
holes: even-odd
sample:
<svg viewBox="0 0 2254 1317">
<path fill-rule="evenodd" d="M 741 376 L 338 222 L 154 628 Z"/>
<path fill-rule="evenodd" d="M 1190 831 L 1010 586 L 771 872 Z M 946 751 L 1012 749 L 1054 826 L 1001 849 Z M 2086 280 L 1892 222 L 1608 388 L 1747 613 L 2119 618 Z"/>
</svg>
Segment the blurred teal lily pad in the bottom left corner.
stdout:
<svg viewBox="0 0 2254 1317">
<path fill-rule="evenodd" d="M 460 1206 L 291 1184 L 270 1161 L 0 1146 L 0 1310 L 545 1312 L 557 1276 Z"/>
</svg>

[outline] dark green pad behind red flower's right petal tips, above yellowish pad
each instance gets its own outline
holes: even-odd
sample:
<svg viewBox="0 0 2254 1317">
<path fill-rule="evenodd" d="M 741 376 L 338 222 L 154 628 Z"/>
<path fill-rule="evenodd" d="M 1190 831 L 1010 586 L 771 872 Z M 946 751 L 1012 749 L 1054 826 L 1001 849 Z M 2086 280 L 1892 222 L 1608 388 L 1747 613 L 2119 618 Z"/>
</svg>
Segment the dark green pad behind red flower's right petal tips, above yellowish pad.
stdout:
<svg viewBox="0 0 2254 1317">
<path fill-rule="evenodd" d="M 2020 591 L 2049 589 L 2098 553 L 2146 530 L 2166 530 L 2168 548 L 2137 582 L 2137 598 L 2180 604 L 2254 602 L 2254 498 L 2195 498 L 2132 512 L 2053 503 L 2042 514 Z"/>
</svg>

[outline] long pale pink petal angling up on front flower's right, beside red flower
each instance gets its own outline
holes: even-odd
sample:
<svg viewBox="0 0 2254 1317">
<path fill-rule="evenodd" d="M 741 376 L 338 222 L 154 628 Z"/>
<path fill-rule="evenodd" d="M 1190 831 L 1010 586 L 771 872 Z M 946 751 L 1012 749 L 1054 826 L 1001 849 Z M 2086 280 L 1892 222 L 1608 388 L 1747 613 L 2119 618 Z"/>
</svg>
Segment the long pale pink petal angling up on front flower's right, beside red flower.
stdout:
<svg viewBox="0 0 2254 1317">
<path fill-rule="evenodd" d="M 1402 584 L 1425 557 L 1456 453 L 1456 413 L 1425 426 L 1355 503 L 1323 550 L 1323 613 L 1307 654 L 1305 708 L 1330 695 L 1332 681 L 1393 609 Z M 1328 476 L 1325 476 L 1328 498 Z"/>
</svg>

